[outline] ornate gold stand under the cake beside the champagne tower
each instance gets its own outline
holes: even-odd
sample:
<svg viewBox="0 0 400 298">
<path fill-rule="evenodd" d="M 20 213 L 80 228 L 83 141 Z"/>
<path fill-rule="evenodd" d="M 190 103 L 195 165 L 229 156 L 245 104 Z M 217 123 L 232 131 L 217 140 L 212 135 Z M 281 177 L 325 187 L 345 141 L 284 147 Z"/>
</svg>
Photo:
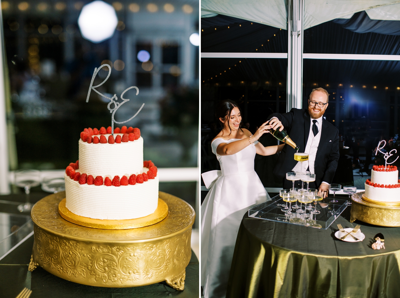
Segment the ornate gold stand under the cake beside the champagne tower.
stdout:
<svg viewBox="0 0 400 298">
<path fill-rule="evenodd" d="M 378 226 L 400 226 L 399 205 L 388 206 L 367 202 L 362 199 L 364 193 L 362 191 L 351 196 L 351 223 L 358 219 L 364 223 L 376 224 Z"/>
</svg>

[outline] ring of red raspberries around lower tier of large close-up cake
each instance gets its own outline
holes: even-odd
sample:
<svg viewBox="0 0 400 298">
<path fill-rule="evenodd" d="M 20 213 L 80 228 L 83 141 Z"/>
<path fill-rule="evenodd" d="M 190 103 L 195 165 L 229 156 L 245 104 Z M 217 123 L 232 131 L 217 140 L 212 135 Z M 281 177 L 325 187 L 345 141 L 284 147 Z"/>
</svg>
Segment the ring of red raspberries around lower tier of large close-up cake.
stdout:
<svg viewBox="0 0 400 298">
<path fill-rule="evenodd" d="M 147 167 L 149 170 L 147 173 L 142 173 L 142 174 L 132 174 L 129 176 L 122 176 L 120 179 L 119 176 L 114 176 L 114 178 L 111 180 L 109 177 L 106 177 L 103 181 L 102 176 L 96 176 L 94 178 L 92 175 L 87 175 L 85 173 L 80 174 L 79 172 L 76 172 L 75 170 L 78 169 L 79 166 L 79 161 L 76 161 L 76 163 L 70 163 L 70 165 L 65 169 L 65 173 L 71 178 L 74 179 L 74 181 L 78 181 L 79 184 L 88 184 L 88 185 L 106 185 L 106 186 L 121 186 L 121 185 L 135 185 L 136 183 L 143 183 L 145 181 L 148 181 L 148 179 L 154 179 L 157 177 L 157 167 L 154 165 L 152 161 L 143 161 L 143 166 Z"/>
</svg>

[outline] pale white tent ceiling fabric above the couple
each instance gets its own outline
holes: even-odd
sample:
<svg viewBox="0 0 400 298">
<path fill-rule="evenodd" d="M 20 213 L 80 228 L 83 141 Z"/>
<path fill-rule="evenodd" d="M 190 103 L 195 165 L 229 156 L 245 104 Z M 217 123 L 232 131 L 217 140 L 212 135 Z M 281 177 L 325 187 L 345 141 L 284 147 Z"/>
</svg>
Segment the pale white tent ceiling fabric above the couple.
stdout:
<svg viewBox="0 0 400 298">
<path fill-rule="evenodd" d="M 287 29 L 287 0 L 202 0 L 201 10 Z M 374 20 L 400 20 L 400 0 L 304 0 L 304 29 L 365 10 Z"/>
</svg>

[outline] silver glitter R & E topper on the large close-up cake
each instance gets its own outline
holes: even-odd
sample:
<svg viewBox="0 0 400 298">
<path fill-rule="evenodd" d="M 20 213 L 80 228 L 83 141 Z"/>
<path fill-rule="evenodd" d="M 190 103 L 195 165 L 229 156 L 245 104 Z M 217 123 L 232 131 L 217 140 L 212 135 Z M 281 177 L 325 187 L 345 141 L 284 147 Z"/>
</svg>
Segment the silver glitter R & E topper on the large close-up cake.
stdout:
<svg viewBox="0 0 400 298">
<path fill-rule="evenodd" d="M 98 73 L 104 66 L 108 67 L 108 75 L 107 75 L 107 77 L 106 77 L 106 78 L 104 79 L 104 81 L 102 81 L 100 84 L 98 84 L 98 85 L 96 85 L 96 86 L 93 86 L 94 78 L 96 77 L 97 73 Z M 122 102 L 119 103 L 119 102 L 117 102 L 118 97 L 117 97 L 116 94 L 114 94 L 114 96 L 110 98 L 110 97 L 108 97 L 108 96 L 106 96 L 106 95 L 100 93 L 100 92 L 97 91 L 96 89 L 94 89 L 94 88 L 97 88 L 97 87 L 100 87 L 101 85 L 103 85 L 103 84 L 108 80 L 108 78 L 110 77 L 110 75 L 111 75 L 111 67 L 110 67 L 108 64 L 103 64 L 103 65 L 101 65 L 99 68 L 94 68 L 94 72 L 93 72 L 93 76 L 92 76 L 92 81 L 90 81 L 88 96 L 86 97 L 86 102 L 89 102 L 90 91 L 92 91 L 92 89 L 93 89 L 93 91 L 95 91 L 96 93 L 98 93 L 100 96 L 105 97 L 105 98 L 107 98 L 107 99 L 110 99 L 110 102 L 109 102 L 108 105 L 107 105 L 107 109 L 110 111 L 110 113 L 112 113 L 112 115 L 111 115 L 111 134 L 114 135 L 114 123 L 122 124 L 122 123 L 125 123 L 125 122 L 128 122 L 128 121 L 131 121 L 134 117 L 136 117 L 136 115 L 138 115 L 138 113 L 140 112 L 140 110 L 143 108 L 144 103 L 142 104 L 142 106 L 140 107 L 140 109 L 136 112 L 136 114 L 133 115 L 132 117 L 130 117 L 128 120 L 126 120 L 126 121 L 121 121 L 121 122 L 115 121 L 115 119 L 114 119 L 115 112 L 118 110 L 118 108 L 119 108 L 121 105 L 123 105 L 124 103 L 126 103 L 127 101 L 129 101 L 128 98 L 124 98 L 125 92 L 128 91 L 128 90 L 130 90 L 130 89 L 132 89 L 132 88 L 135 88 L 135 89 L 136 89 L 136 95 L 138 95 L 138 94 L 139 94 L 139 88 L 136 87 L 136 86 L 131 86 L 131 87 L 129 87 L 129 88 L 126 88 L 126 89 L 121 93 L 121 96 L 120 96 L 120 97 L 121 97 L 121 99 L 122 99 Z M 114 104 L 114 107 L 111 107 L 112 104 Z"/>
</svg>

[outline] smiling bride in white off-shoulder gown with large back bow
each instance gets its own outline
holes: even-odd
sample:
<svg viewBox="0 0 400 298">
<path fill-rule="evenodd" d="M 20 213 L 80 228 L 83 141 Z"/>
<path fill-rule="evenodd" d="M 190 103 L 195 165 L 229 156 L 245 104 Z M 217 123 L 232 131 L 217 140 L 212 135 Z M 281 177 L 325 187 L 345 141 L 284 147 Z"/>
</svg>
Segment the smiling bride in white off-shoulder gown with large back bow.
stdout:
<svg viewBox="0 0 400 298">
<path fill-rule="evenodd" d="M 257 140 L 271 125 L 263 123 L 252 135 L 241 128 L 239 106 L 221 101 L 216 109 L 222 131 L 212 140 L 221 171 L 203 173 L 210 188 L 201 205 L 201 285 L 204 298 L 225 297 L 233 250 L 243 215 L 271 198 L 254 171 L 254 157 L 272 155 L 284 146 L 264 147 Z"/>
</svg>

